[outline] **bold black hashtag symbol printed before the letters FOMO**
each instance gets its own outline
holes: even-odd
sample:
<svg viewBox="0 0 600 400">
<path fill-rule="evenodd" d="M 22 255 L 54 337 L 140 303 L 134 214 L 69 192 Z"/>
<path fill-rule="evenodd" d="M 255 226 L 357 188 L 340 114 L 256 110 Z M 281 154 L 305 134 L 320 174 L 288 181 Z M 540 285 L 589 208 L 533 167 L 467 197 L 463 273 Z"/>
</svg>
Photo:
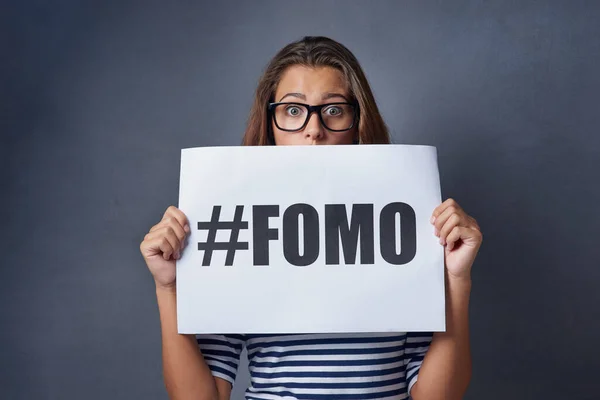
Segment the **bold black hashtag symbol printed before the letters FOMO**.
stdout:
<svg viewBox="0 0 600 400">
<path fill-rule="evenodd" d="M 244 206 L 236 206 L 233 221 L 220 221 L 221 206 L 214 206 L 212 217 L 209 222 L 198 222 L 198 230 L 208 230 L 206 242 L 198 243 L 198 250 L 204 250 L 204 258 L 202 266 L 210 265 L 212 253 L 215 250 L 227 250 L 225 257 L 225 265 L 233 265 L 233 257 L 236 250 L 248 250 L 248 242 L 240 242 L 238 240 L 240 230 L 248 229 L 248 221 L 242 221 Z M 217 231 L 231 230 L 229 242 L 217 242 Z"/>
</svg>

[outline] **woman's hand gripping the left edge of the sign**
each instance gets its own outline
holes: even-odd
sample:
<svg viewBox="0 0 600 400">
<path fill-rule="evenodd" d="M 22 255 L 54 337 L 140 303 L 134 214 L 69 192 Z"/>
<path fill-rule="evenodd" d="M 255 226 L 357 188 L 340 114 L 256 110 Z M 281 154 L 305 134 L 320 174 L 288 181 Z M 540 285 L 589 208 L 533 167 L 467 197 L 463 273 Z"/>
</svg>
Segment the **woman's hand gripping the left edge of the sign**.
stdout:
<svg viewBox="0 0 600 400">
<path fill-rule="evenodd" d="M 175 261 L 181 257 L 189 233 L 185 214 L 170 206 L 162 220 L 144 237 L 140 251 L 157 288 L 175 288 Z"/>
</svg>

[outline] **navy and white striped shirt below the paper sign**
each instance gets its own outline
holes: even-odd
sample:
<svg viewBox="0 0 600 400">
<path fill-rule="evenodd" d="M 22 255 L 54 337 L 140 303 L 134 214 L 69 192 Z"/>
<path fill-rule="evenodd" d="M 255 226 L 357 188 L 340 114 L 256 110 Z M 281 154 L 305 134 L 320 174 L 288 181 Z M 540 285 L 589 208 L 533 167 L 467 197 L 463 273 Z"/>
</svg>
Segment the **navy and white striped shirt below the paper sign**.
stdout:
<svg viewBox="0 0 600 400">
<path fill-rule="evenodd" d="M 196 335 L 212 374 L 233 385 L 248 350 L 247 400 L 409 399 L 431 333 Z"/>
</svg>

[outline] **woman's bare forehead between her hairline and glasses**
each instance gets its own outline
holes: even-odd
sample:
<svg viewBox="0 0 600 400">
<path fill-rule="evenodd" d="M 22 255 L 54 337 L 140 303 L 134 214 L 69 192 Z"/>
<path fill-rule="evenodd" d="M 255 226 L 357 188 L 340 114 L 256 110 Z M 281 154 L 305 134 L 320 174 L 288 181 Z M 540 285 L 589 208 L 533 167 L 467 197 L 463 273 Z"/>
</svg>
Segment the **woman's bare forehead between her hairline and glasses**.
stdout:
<svg viewBox="0 0 600 400">
<path fill-rule="evenodd" d="M 291 92 L 305 95 L 338 92 L 347 95 L 348 84 L 344 75 L 335 68 L 293 65 L 282 74 L 275 97 L 280 98 Z"/>
</svg>

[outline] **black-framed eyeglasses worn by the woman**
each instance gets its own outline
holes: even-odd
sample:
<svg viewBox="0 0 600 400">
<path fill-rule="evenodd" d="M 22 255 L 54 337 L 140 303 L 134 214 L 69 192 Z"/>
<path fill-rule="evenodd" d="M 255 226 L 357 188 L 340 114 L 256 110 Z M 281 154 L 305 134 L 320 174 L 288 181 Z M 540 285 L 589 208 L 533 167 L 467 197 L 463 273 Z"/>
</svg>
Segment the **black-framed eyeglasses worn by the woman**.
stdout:
<svg viewBox="0 0 600 400">
<path fill-rule="evenodd" d="M 319 115 L 321 124 L 333 132 L 350 130 L 358 120 L 356 103 L 327 103 L 318 106 L 304 103 L 269 103 L 269 112 L 273 116 L 275 126 L 286 132 L 304 129 L 313 112 Z"/>
</svg>

